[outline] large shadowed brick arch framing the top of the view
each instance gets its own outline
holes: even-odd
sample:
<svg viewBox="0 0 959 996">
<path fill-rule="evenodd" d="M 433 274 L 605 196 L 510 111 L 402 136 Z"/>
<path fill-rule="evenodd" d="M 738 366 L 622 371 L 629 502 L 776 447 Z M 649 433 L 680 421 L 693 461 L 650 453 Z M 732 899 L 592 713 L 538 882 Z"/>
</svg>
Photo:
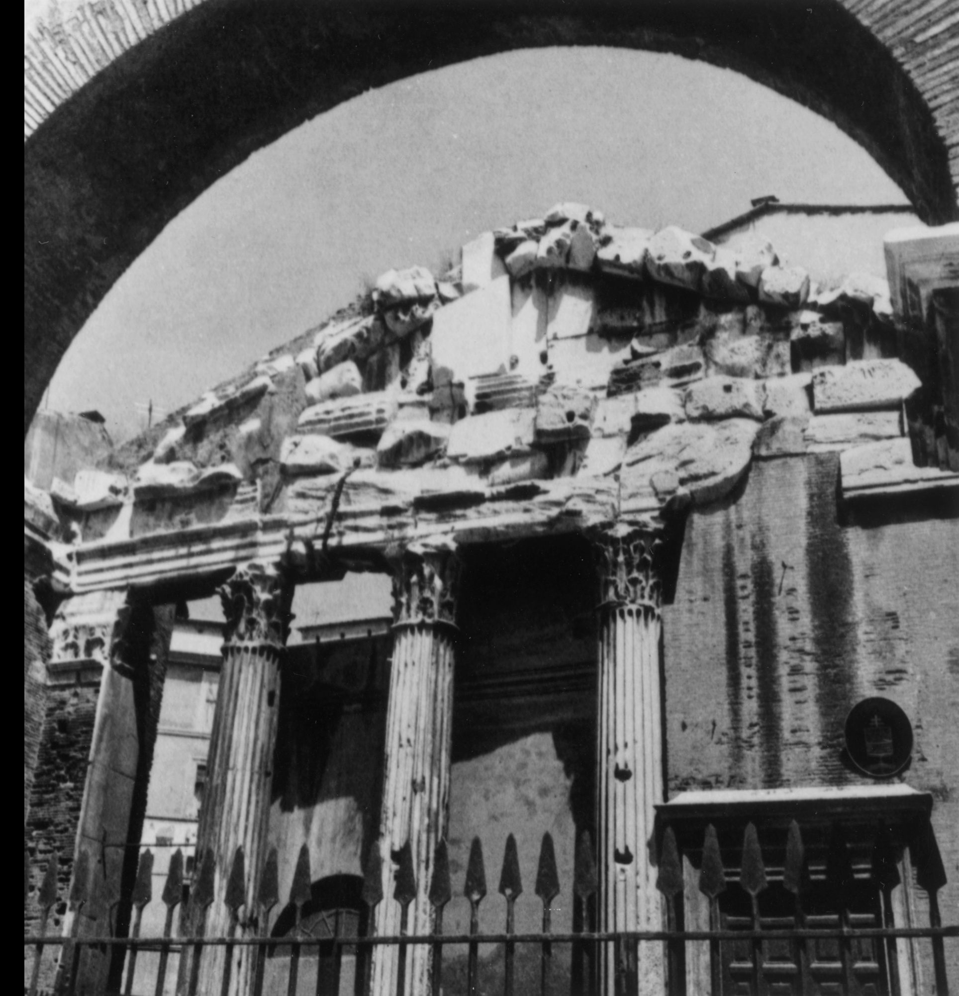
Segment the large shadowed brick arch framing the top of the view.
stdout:
<svg viewBox="0 0 959 996">
<path fill-rule="evenodd" d="M 948 3 L 194 2 L 80 0 L 28 41 L 25 430 L 107 291 L 216 179 L 364 90 L 480 56 L 604 45 L 728 67 L 839 124 L 927 221 L 957 216 Z"/>
</svg>

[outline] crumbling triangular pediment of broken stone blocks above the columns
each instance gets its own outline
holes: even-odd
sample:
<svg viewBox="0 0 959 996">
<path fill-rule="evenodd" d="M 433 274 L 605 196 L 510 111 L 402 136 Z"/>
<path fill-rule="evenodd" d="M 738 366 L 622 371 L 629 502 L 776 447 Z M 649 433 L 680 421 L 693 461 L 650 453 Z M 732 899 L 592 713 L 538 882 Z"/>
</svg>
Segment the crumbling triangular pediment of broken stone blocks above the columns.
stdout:
<svg viewBox="0 0 959 996">
<path fill-rule="evenodd" d="M 91 479 L 60 501 L 187 495 L 272 467 L 259 511 L 300 508 L 348 472 L 354 503 L 404 493 L 412 472 L 429 492 L 468 480 L 477 500 L 549 478 L 605 494 L 618 475 L 620 514 L 702 505 L 754 454 L 903 437 L 898 411 L 919 380 L 888 353 L 888 301 L 868 275 L 811 287 L 758 237 L 733 252 L 561 203 L 478 235 L 440 279 L 382 274 L 368 313 L 204 394 L 128 487 Z"/>
</svg>

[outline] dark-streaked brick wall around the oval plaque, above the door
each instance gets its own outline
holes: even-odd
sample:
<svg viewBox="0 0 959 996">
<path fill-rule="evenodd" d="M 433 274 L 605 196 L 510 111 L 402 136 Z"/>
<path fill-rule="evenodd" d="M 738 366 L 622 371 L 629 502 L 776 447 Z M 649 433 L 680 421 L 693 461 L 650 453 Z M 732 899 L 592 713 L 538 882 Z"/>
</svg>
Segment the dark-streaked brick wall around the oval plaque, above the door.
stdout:
<svg viewBox="0 0 959 996">
<path fill-rule="evenodd" d="M 870 783 L 842 759 L 843 724 L 891 699 L 915 735 L 897 780 L 935 799 L 939 901 L 956 909 L 959 519 L 913 497 L 843 525 L 838 463 L 756 461 L 740 495 L 690 517 L 664 613 L 668 792 Z"/>
</svg>

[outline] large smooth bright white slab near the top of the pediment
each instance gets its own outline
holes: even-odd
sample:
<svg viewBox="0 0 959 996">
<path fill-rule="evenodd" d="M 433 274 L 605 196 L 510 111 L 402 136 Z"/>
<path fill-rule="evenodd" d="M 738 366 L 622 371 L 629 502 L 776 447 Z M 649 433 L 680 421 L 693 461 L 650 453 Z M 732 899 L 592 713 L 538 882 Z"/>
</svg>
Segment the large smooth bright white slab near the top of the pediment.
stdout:
<svg viewBox="0 0 959 996">
<path fill-rule="evenodd" d="M 467 294 L 433 316 L 429 336 L 434 386 L 482 373 L 508 373 L 510 278 Z"/>
</svg>

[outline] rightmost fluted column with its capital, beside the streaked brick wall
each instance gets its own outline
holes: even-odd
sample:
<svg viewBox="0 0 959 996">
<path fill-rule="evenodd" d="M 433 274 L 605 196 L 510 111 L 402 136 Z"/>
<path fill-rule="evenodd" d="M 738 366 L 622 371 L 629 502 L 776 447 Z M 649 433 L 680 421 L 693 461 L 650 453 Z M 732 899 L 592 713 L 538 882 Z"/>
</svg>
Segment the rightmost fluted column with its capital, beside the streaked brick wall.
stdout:
<svg viewBox="0 0 959 996">
<path fill-rule="evenodd" d="M 663 801 L 659 680 L 660 535 L 621 523 L 596 542 L 599 570 L 599 929 L 661 930 L 649 860 Z M 600 992 L 662 993 L 661 944 L 612 945 L 600 959 Z M 618 980 L 618 981 L 617 981 Z"/>
</svg>

